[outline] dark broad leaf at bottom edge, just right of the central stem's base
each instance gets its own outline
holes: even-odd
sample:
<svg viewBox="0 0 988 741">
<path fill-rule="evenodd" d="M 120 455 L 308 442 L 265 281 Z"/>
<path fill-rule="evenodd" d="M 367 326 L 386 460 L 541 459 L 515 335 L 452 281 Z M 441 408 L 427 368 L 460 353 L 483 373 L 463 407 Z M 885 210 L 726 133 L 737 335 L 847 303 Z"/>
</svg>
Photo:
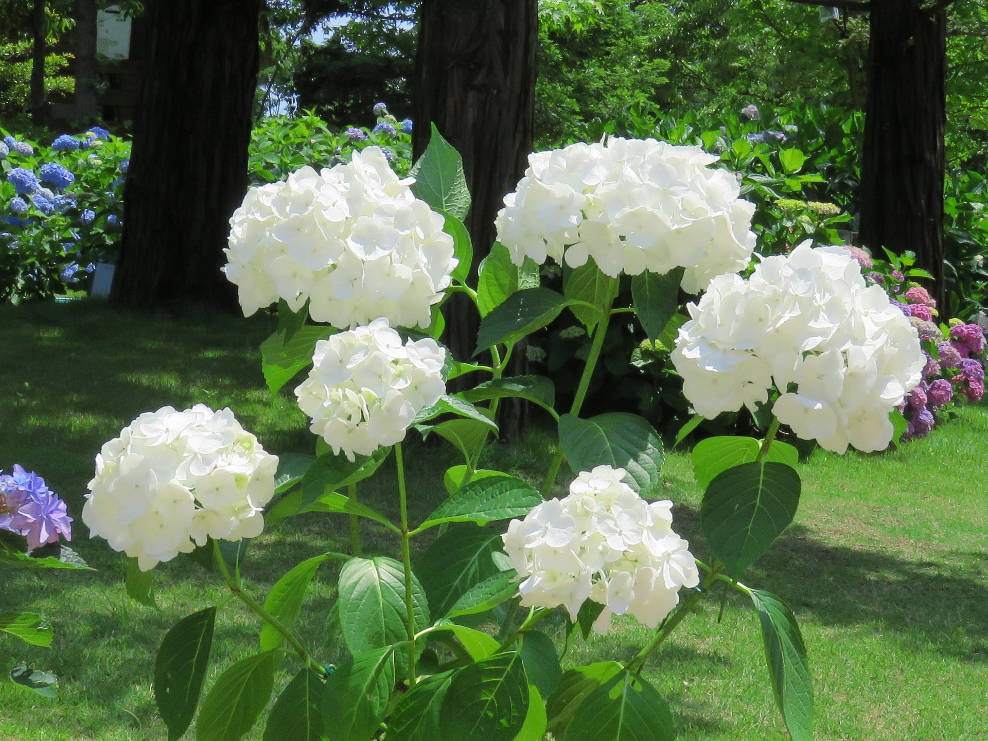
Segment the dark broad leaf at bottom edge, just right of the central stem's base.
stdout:
<svg viewBox="0 0 988 741">
<path fill-rule="evenodd" d="M 513 741 L 529 711 L 521 654 L 499 653 L 453 675 L 440 710 L 447 741 Z"/>
</svg>

